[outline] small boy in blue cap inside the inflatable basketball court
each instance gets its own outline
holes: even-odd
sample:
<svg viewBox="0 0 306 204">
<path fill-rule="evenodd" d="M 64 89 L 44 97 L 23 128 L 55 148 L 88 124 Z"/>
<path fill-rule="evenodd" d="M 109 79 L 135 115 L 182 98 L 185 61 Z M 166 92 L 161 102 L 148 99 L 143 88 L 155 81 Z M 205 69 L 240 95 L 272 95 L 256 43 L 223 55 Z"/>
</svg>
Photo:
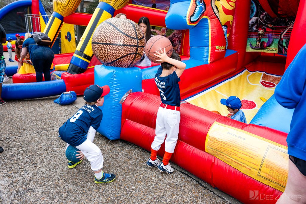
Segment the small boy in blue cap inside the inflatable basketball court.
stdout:
<svg viewBox="0 0 306 204">
<path fill-rule="evenodd" d="M 247 119 L 245 118 L 243 111 L 240 110 L 242 104 L 237 96 L 230 96 L 227 99 L 222 98 L 220 103 L 226 106 L 230 113 L 233 113 L 232 116 L 229 116 L 231 119 L 247 123 Z"/>
</svg>

